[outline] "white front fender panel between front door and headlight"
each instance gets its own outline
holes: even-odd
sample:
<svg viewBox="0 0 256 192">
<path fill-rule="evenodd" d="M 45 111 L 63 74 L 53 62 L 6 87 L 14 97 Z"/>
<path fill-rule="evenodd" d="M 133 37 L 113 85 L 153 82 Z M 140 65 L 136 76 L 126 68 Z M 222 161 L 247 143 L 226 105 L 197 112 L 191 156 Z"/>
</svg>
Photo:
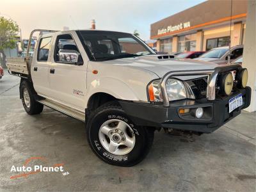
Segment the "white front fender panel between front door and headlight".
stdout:
<svg viewBox="0 0 256 192">
<path fill-rule="evenodd" d="M 93 74 L 93 70 L 98 70 L 98 74 Z M 93 93 L 103 92 L 118 99 L 148 101 L 147 84 L 152 79 L 159 77 L 142 68 L 118 64 L 117 61 L 89 61 L 86 100 Z"/>
</svg>

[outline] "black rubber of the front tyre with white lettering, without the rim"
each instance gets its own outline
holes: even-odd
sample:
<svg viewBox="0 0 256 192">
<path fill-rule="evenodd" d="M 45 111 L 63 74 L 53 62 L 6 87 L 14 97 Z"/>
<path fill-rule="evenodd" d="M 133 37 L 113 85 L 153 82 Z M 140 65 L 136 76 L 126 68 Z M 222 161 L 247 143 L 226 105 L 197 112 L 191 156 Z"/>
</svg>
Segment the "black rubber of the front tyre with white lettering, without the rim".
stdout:
<svg viewBox="0 0 256 192">
<path fill-rule="evenodd" d="M 135 135 L 135 145 L 129 154 L 124 156 L 116 156 L 109 153 L 100 143 L 99 140 L 99 129 L 104 122 L 111 119 L 122 120 L 129 124 Z M 99 111 L 96 113 L 92 120 L 88 122 L 87 129 L 88 141 L 93 148 L 95 154 L 101 159 L 109 164 L 118 166 L 132 166 L 133 164 L 139 163 L 145 155 L 143 153 L 146 151 L 147 146 L 147 132 L 143 127 L 137 127 L 132 123 L 127 115 L 125 115 L 122 109 L 104 109 L 104 111 Z"/>
</svg>

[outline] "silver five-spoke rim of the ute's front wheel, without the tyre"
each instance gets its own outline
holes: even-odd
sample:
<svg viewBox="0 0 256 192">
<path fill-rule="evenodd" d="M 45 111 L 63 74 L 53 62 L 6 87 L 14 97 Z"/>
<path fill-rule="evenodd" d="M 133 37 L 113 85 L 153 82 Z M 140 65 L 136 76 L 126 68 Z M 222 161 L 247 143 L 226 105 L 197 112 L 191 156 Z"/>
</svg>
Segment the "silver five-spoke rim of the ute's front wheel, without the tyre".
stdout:
<svg viewBox="0 0 256 192">
<path fill-rule="evenodd" d="M 122 120 L 111 119 L 100 126 L 99 140 L 111 154 L 124 156 L 135 145 L 135 135 L 130 125 Z"/>
</svg>

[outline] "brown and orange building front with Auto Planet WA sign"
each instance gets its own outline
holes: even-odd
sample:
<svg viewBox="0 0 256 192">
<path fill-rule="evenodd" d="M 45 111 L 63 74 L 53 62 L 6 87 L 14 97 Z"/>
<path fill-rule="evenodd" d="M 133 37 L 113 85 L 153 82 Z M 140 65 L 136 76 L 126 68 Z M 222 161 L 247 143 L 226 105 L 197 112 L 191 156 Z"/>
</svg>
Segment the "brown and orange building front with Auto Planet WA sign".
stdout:
<svg viewBox="0 0 256 192">
<path fill-rule="evenodd" d="M 150 26 L 157 51 L 208 51 L 244 44 L 246 0 L 209 0 Z M 231 24 L 230 24 L 231 23 Z"/>
</svg>

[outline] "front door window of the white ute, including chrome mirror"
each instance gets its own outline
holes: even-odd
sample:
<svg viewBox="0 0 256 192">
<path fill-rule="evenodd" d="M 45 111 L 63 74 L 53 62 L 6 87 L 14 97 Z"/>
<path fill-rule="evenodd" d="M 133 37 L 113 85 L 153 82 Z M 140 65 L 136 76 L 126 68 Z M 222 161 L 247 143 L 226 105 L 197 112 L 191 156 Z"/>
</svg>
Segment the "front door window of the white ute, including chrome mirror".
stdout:
<svg viewBox="0 0 256 192">
<path fill-rule="evenodd" d="M 83 63 L 76 42 L 70 34 L 57 36 L 54 49 L 54 61 L 68 64 Z"/>
</svg>

